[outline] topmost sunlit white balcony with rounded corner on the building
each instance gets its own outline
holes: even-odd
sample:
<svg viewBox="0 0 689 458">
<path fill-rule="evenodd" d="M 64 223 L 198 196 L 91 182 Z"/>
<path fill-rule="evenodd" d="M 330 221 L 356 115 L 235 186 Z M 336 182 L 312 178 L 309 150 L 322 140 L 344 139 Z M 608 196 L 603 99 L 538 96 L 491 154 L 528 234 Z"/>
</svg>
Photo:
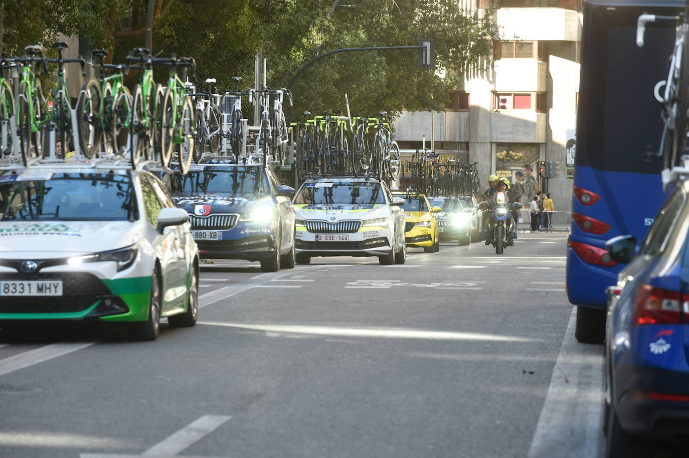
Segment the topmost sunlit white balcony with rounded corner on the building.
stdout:
<svg viewBox="0 0 689 458">
<path fill-rule="evenodd" d="M 500 8 L 495 21 L 503 40 L 582 41 L 582 21 L 573 10 Z"/>
</svg>

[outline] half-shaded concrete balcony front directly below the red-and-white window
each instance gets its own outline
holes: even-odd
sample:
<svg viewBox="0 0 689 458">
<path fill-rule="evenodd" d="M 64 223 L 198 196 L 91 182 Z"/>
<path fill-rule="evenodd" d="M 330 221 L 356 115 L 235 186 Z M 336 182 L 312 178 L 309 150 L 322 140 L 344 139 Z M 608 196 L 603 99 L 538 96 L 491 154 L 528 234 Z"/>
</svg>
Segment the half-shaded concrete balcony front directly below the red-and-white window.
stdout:
<svg viewBox="0 0 689 458">
<path fill-rule="evenodd" d="M 546 114 L 528 110 L 491 113 L 491 142 L 546 143 Z"/>
</svg>

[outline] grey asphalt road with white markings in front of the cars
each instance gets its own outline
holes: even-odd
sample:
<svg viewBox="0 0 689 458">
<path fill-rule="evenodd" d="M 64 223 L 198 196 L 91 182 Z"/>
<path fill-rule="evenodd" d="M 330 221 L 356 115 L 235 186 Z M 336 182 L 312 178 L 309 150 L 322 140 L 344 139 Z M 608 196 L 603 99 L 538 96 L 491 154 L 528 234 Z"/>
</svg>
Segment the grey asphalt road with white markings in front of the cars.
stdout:
<svg viewBox="0 0 689 458">
<path fill-rule="evenodd" d="M 0 457 L 601 457 L 566 233 L 407 264 L 216 261 L 198 324 L 0 331 Z"/>
</svg>

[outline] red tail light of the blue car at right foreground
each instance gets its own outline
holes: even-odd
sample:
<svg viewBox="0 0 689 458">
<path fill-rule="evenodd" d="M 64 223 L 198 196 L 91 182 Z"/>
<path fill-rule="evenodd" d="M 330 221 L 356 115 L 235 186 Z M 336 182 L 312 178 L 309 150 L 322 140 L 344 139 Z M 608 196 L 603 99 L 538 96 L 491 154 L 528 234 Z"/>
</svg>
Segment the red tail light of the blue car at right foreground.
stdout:
<svg viewBox="0 0 689 458">
<path fill-rule="evenodd" d="M 680 300 L 679 291 L 641 284 L 637 291 L 633 323 L 673 324 L 683 323 L 682 309 L 689 308 L 689 295 Z"/>
</svg>

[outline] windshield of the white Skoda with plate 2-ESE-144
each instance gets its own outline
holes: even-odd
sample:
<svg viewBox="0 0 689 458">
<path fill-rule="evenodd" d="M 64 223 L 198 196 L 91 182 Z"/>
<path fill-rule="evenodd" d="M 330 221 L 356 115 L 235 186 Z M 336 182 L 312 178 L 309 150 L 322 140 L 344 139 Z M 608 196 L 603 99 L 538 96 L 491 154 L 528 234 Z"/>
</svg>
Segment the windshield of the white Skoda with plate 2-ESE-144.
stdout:
<svg viewBox="0 0 689 458">
<path fill-rule="evenodd" d="M 384 204 L 385 197 L 380 183 L 306 183 L 294 203 L 371 205 Z"/>
</svg>

